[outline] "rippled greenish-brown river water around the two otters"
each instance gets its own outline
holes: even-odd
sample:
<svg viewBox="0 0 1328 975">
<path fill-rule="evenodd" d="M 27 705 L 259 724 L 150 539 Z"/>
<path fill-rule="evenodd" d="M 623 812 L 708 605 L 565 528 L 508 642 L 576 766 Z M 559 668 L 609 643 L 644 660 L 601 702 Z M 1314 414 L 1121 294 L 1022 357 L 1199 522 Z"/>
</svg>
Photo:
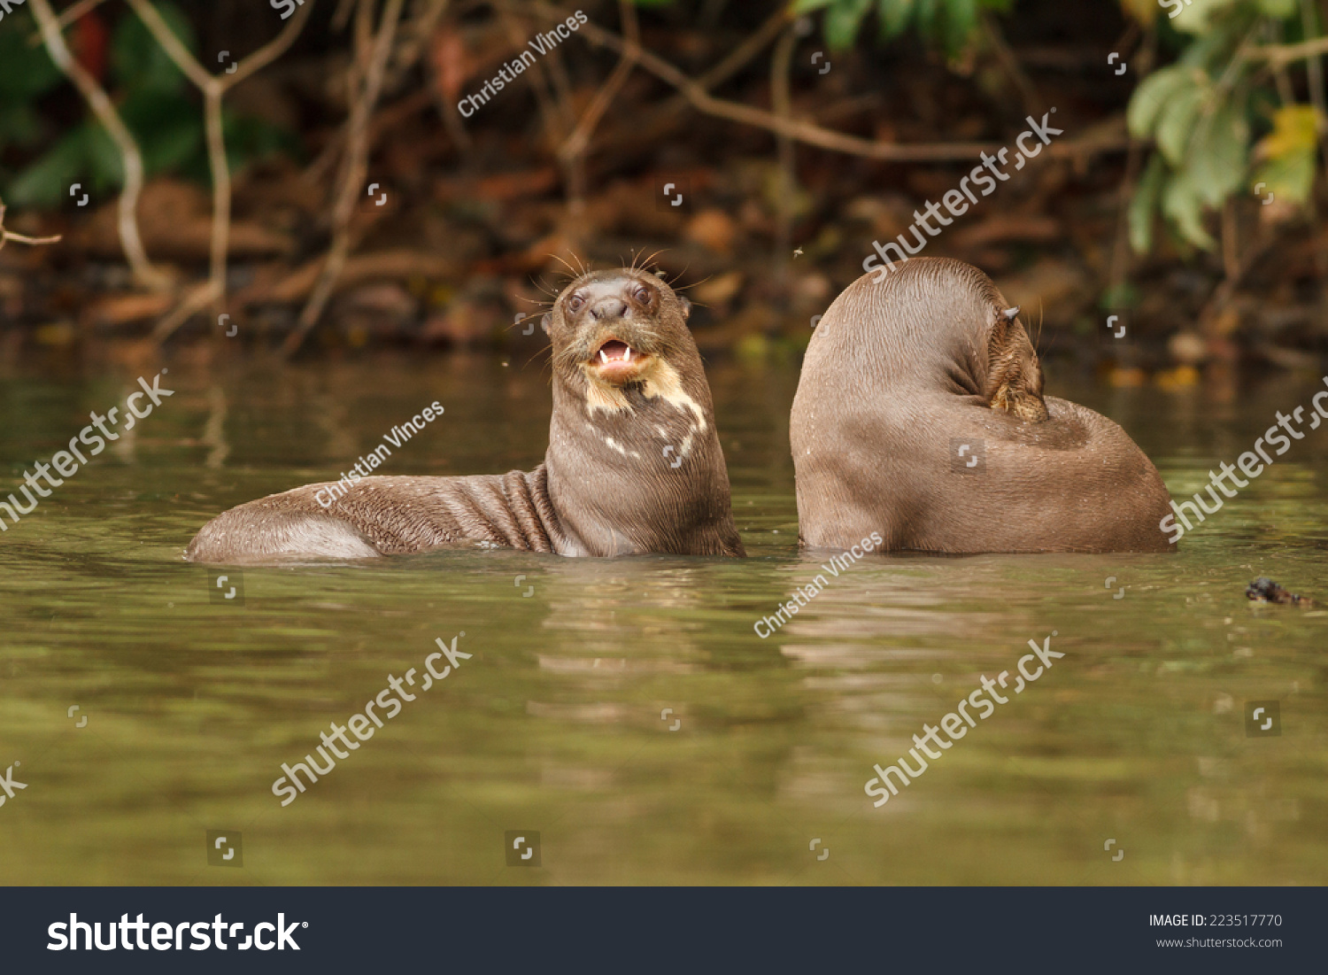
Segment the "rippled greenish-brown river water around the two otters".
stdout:
<svg viewBox="0 0 1328 975">
<path fill-rule="evenodd" d="M 710 369 L 746 561 L 247 567 L 243 604 L 179 559 L 208 517 L 336 477 L 436 399 L 444 418 L 381 473 L 529 468 L 544 372 L 454 356 L 170 376 L 131 440 L 0 535 L 0 772 L 27 785 L 0 806 L 12 883 L 1328 879 L 1328 614 L 1243 596 L 1270 575 L 1328 598 L 1328 432 L 1178 557 L 869 557 L 761 639 L 829 558 L 795 547 L 791 368 Z M 1181 493 L 1312 383 L 1050 392 L 1121 422 Z M 11 371 L 0 476 L 125 392 Z M 874 809 L 872 764 L 1052 630 L 1066 656 Z M 280 806 L 282 762 L 459 631 L 473 659 Z M 1251 737 L 1263 700 L 1280 735 Z M 243 833 L 242 869 L 206 865 L 208 829 Z M 540 869 L 505 866 L 511 829 L 540 833 Z"/>
</svg>

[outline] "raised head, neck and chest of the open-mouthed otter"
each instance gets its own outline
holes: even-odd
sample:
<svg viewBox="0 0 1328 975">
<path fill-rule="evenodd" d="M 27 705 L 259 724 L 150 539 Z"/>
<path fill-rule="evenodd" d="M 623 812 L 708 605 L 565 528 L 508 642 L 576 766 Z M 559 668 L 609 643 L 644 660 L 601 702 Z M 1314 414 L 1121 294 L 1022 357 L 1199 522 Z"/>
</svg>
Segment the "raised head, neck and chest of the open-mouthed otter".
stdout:
<svg viewBox="0 0 1328 975">
<path fill-rule="evenodd" d="M 741 555 L 691 304 L 648 271 L 592 271 L 543 317 L 550 498 L 586 554 Z"/>
</svg>

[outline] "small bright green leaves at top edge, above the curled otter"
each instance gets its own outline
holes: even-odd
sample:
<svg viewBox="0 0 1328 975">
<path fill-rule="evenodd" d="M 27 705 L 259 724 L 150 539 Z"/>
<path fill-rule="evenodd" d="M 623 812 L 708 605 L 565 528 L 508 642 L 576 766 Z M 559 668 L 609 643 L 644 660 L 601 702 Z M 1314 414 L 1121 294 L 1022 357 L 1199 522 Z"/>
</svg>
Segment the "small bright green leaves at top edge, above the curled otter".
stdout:
<svg viewBox="0 0 1328 975">
<path fill-rule="evenodd" d="M 880 21 L 882 40 L 898 37 L 910 27 L 928 44 L 951 57 L 972 40 L 984 9 L 1007 11 L 1009 0 L 795 0 L 795 13 L 823 9 L 825 37 L 831 49 L 853 46 L 872 9 Z"/>
</svg>

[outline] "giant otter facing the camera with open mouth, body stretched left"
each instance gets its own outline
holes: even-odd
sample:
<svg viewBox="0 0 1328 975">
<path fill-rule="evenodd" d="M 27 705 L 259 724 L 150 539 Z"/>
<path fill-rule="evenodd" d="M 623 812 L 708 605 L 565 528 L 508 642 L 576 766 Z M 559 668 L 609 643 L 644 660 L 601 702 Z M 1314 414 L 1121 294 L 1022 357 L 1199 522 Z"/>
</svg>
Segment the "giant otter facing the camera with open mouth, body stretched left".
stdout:
<svg viewBox="0 0 1328 975">
<path fill-rule="evenodd" d="M 583 274 L 543 316 L 554 413 L 533 472 L 307 485 L 219 514 L 185 557 L 364 558 L 448 545 L 745 555 L 689 312 L 645 271 Z"/>
</svg>

